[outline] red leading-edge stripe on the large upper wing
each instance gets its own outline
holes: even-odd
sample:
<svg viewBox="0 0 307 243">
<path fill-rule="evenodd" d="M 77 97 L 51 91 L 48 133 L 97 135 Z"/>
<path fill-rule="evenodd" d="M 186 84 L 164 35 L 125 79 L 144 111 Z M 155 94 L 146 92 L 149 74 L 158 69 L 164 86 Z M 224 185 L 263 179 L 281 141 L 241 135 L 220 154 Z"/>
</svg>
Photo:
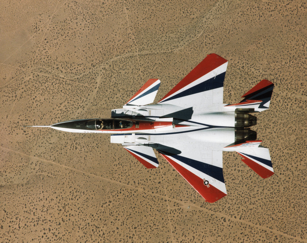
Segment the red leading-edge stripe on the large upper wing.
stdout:
<svg viewBox="0 0 307 243">
<path fill-rule="evenodd" d="M 200 64 L 198 64 L 190 73 L 188 73 L 188 75 L 185 76 L 183 80 L 181 80 L 173 89 L 171 89 L 171 91 L 169 91 L 159 102 L 161 102 L 169 95 L 172 95 L 173 93 L 187 86 L 188 84 L 192 83 L 193 81 L 204 76 L 205 74 L 216 69 L 225 62 L 228 61 L 214 53 L 207 55 L 207 57 L 203 61 L 201 61 Z"/>
</svg>

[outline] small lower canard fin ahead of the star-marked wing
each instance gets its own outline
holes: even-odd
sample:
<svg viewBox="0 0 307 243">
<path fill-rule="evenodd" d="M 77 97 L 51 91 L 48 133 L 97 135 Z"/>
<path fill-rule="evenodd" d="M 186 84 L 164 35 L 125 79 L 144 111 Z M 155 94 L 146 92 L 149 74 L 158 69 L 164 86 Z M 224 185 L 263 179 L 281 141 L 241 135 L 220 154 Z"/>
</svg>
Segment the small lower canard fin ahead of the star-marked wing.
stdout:
<svg viewBox="0 0 307 243">
<path fill-rule="evenodd" d="M 125 146 L 124 148 L 146 168 L 152 169 L 159 166 L 159 162 L 152 148 L 142 145 Z"/>
</svg>

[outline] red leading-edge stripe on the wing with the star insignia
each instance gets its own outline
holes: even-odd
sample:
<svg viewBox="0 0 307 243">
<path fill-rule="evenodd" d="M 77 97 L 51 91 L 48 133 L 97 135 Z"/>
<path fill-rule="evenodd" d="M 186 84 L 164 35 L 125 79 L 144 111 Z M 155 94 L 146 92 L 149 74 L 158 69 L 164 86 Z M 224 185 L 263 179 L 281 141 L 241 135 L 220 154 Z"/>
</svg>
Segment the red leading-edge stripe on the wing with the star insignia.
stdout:
<svg viewBox="0 0 307 243">
<path fill-rule="evenodd" d="M 197 175 L 192 173 L 191 171 L 185 169 L 185 167 L 179 165 L 166 155 L 163 155 L 164 159 L 167 160 L 174 168 L 185 178 L 186 181 L 209 203 L 214 203 L 217 200 L 221 199 L 222 197 L 226 196 L 227 194 L 221 192 L 219 189 L 215 188 L 214 186 L 210 185 L 207 187 L 204 185 L 204 180 L 199 178 Z"/>
</svg>

